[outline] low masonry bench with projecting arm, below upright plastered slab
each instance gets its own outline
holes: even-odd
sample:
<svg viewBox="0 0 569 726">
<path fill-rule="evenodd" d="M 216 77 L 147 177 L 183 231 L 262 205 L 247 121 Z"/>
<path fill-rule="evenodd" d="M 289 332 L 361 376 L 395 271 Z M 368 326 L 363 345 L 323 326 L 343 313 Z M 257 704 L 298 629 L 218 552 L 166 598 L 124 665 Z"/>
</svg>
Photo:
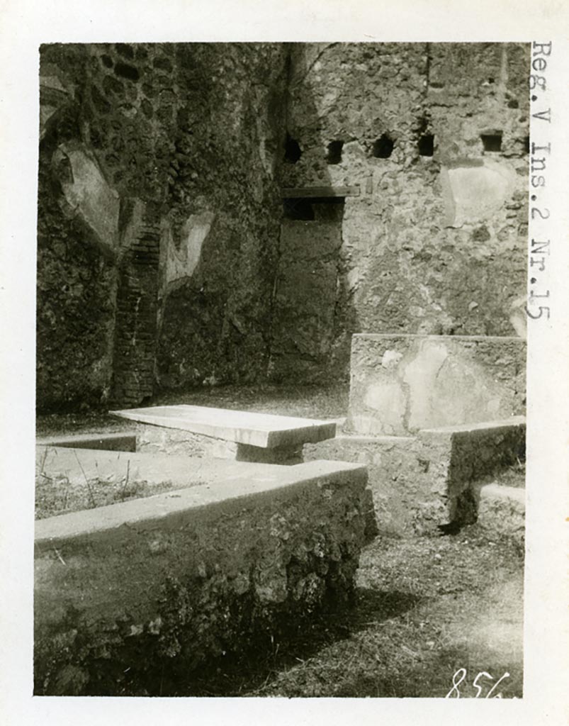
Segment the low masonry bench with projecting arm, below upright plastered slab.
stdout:
<svg viewBox="0 0 569 726">
<path fill-rule="evenodd" d="M 424 428 L 413 436 L 339 433 L 307 444 L 305 460 L 367 465 L 382 534 L 429 534 L 470 523 L 477 487 L 525 459 L 525 417 Z"/>
</svg>

